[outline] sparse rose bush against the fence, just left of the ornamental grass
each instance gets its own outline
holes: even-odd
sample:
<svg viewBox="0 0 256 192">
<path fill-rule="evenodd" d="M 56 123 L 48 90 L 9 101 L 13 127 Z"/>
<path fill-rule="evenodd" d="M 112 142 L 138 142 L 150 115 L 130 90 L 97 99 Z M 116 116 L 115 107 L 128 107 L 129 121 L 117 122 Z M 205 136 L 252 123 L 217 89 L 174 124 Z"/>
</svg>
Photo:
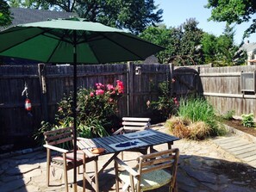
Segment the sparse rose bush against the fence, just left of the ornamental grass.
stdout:
<svg viewBox="0 0 256 192">
<path fill-rule="evenodd" d="M 171 96 L 170 82 L 165 81 L 159 84 L 159 98 L 150 103 L 151 108 L 159 111 L 163 118 L 167 119 L 174 114 L 178 108 L 176 97 Z"/>
</svg>

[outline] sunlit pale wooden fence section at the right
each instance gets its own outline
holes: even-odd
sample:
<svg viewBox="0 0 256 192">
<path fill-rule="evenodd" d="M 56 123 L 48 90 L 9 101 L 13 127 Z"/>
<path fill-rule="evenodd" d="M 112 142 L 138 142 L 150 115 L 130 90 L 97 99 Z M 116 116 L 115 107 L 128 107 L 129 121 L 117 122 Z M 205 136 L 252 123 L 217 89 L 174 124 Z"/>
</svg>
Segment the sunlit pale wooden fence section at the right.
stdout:
<svg viewBox="0 0 256 192">
<path fill-rule="evenodd" d="M 203 96 L 219 114 L 234 110 L 256 118 L 255 71 L 256 65 L 202 68 Z"/>
</svg>

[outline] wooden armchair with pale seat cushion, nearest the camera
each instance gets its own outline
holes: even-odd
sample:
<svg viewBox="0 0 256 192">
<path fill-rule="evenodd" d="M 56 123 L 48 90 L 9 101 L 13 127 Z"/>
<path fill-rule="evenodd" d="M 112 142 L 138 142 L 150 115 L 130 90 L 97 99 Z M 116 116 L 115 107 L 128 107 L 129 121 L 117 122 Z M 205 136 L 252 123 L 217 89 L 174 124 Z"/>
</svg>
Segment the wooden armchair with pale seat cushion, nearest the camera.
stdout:
<svg viewBox="0 0 256 192">
<path fill-rule="evenodd" d="M 177 191 L 178 156 L 178 149 L 142 155 L 137 158 L 134 169 L 120 158 L 116 158 L 116 191 L 119 191 L 120 181 L 124 183 L 122 191 L 127 189 L 131 189 L 133 192 L 147 191 L 158 189 L 168 183 L 170 192 Z M 125 170 L 119 171 L 118 165 Z"/>
</svg>

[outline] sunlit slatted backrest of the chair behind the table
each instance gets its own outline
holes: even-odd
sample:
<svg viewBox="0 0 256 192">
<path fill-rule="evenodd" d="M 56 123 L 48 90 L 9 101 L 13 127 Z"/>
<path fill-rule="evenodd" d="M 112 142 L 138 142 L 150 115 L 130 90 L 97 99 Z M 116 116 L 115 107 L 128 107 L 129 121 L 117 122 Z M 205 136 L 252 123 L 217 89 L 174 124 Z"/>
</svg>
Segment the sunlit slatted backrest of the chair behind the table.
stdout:
<svg viewBox="0 0 256 192">
<path fill-rule="evenodd" d="M 150 127 L 150 118 L 123 117 L 122 126 L 125 131 L 140 131 Z"/>
</svg>

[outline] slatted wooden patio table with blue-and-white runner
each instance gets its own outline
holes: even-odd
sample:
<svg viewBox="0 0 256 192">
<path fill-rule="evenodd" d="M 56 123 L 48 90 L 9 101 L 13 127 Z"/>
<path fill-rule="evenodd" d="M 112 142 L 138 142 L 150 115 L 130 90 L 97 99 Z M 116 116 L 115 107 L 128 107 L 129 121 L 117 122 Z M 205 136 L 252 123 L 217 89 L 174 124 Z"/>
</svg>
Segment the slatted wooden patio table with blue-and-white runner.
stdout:
<svg viewBox="0 0 256 192">
<path fill-rule="evenodd" d="M 84 138 L 78 138 L 78 148 L 82 150 L 86 157 L 92 158 L 94 157 L 94 170 L 95 174 L 93 177 L 89 177 L 85 174 L 85 179 L 91 183 L 91 187 L 95 191 L 99 191 L 99 184 L 98 184 L 98 176 L 103 170 L 111 163 L 111 161 L 116 158 L 116 156 L 120 152 L 124 152 L 126 150 L 133 150 L 140 147 L 150 147 L 150 152 L 155 151 L 153 149 L 153 146 L 157 146 L 160 144 L 167 144 L 168 149 L 172 148 L 173 141 L 178 140 L 177 137 L 174 137 L 170 134 L 161 133 L 159 131 L 153 130 L 153 129 L 147 129 L 140 132 L 134 132 L 134 133 L 126 133 L 126 134 L 119 134 L 119 135 L 113 135 L 103 138 L 94 138 L 94 139 L 84 139 Z M 95 154 L 92 152 L 92 149 L 95 148 L 103 148 L 104 152 L 100 154 Z M 98 170 L 98 157 L 103 156 L 106 154 L 113 154 L 111 157 L 109 157 L 109 160 L 103 164 L 103 167 L 101 170 Z M 86 160 L 85 160 L 86 162 Z M 85 183 L 84 187 L 85 188 Z M 85 189 L 84 189 L 85 190 Z"/>
</svg>

